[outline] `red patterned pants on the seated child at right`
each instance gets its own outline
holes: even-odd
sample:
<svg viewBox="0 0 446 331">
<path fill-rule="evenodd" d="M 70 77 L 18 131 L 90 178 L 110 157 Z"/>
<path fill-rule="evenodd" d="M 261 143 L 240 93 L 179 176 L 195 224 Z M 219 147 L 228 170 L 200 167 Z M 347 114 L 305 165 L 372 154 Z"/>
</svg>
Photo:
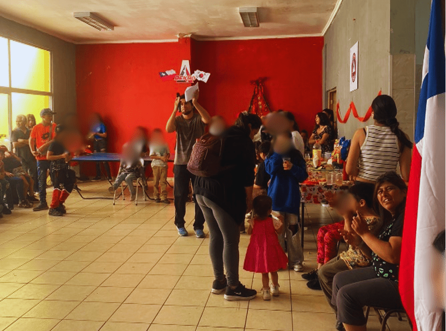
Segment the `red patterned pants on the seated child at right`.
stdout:
<svg viewBox="0 0 446 331">
<path fill-rule="evenodd" d="M 336 246 L 342 235 L 338 230 L 344 229 L 344 221 L 324 225 L 318 231 L 318 263 L 327 263 L 338 255 Z"/>
</svg>

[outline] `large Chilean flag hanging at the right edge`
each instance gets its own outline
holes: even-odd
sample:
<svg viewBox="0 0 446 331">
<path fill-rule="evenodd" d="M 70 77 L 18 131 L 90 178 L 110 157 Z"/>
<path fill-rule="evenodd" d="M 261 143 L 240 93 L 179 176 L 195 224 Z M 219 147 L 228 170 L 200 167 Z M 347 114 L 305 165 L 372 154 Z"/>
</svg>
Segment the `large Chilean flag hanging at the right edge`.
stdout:
<svg viewBox="0 0 446 331">
<path fill-rule="evenodd" d="M 437 234 L 445 229 L 445 39 L 440 0 L 432 0 L 415 147 L 402 236 L 399 292 L 414 330 L 437 331 L 442 311 L 431 286 Z"/>
</svg>

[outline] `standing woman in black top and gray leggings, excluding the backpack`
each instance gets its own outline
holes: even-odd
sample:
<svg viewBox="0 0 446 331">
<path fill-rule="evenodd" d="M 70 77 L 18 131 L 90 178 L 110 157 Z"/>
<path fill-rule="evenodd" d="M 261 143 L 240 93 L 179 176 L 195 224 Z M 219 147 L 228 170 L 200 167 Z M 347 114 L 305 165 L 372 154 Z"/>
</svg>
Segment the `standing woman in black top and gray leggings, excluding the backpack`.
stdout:
<svg viewBox="0 0 446 331">
<path fill-rule="evenodd" d="M 197 176 L 194 192 L 209 228 L 209 254 L 215 280 L 212 293 L 225 292 L 224 299 L 251 300 L 257 291 L 239 280 L 239 225 L 251 209 L 255 149 L 252 139 L 262 121 L 257 115 L 241 113 L 222 139 L 220 171 L 212 177 Z M 224 275 L 226 269 L 227 278 Z"/>
</svg>

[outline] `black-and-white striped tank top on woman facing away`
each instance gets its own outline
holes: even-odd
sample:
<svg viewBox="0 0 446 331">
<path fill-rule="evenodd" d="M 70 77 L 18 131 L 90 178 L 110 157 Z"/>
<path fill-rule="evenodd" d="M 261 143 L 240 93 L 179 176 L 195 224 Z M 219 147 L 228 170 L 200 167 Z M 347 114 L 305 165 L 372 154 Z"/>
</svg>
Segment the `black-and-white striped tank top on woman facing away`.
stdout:
<svg viewBox="0 0 446 331">
<path fill-rule="evenodd" d="M 398 138 L 390 127 L 366 127 L 366 139 L 359 155 L 358 177 L 375 181 L 388 171 L 396 171 L 399 155 Z"/>
</svg>

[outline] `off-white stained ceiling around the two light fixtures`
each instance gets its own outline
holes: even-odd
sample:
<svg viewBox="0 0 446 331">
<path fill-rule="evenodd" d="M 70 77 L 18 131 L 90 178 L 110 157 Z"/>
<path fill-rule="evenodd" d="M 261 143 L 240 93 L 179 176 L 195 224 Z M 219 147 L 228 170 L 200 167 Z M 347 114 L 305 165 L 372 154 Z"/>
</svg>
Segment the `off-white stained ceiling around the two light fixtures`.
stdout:
<svg viewBox="0 0 446 331">
<path fill-rule="evenodd" d="M 0 15 L 76 43 L 320 35 L 341 0 L 0 0 Z M 239 7 L 259 7 L 244 27 Z M 91 11 L 115 25 L 98 31 L 73 17 Z"/>
</svg>

